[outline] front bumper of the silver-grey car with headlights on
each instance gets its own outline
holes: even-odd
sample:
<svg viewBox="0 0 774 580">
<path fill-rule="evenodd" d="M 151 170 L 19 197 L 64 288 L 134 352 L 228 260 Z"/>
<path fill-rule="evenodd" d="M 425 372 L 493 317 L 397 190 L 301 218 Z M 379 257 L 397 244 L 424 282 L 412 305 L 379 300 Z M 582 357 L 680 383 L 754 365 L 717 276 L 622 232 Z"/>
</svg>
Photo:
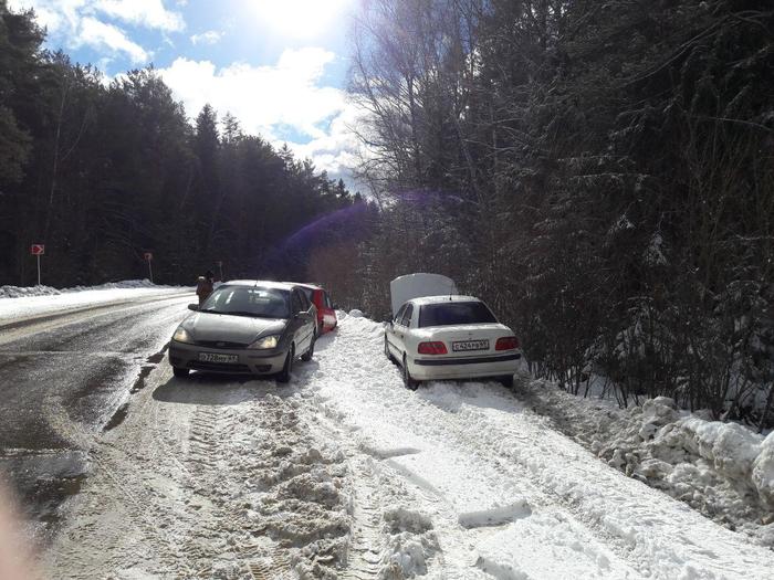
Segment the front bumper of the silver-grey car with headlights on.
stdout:
<svg viewBox="0 0 774 580">
<path fill-rule="evenodd" d="M 203 362 L 199 354 L 236 355 L 237 362 Z M 198 345 L 188 345 L 172 340 L 169 344 L 169 363 L 172 367 L 227 375 L 273 375 L 280 372 L 285 365 L 287 352 L 280 349 L 220 349 Z"/>
</svg>

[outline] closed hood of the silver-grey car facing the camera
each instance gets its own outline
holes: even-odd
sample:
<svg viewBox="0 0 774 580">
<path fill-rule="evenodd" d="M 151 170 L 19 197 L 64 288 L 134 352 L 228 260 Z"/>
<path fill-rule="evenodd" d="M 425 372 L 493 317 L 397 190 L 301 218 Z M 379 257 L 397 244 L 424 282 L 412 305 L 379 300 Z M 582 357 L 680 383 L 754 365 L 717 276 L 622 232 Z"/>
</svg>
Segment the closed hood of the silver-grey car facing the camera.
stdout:
<svg viewBox="0 0 774 580">
<path fill-rule="evenodd" d="M 196 341 L 224 341 L 250 345 L 257 338 L 278 335 L 287 320 L 279 318 L 252 318 L 228 314 L 196 313 L 182 321 Z"/>
</svg>

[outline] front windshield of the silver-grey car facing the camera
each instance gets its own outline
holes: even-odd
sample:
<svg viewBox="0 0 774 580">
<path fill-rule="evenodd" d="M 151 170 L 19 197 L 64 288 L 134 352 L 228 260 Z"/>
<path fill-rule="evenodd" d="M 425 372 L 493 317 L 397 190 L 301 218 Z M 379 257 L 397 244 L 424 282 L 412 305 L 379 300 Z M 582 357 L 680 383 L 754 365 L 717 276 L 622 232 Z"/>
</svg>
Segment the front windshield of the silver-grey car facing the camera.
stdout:
<svg viewBox="0 0 774 580">
<path fill-rule="evenodd" d="M 200 310 L 257 318 L 289 318 L 290 292 L 261 286 L 223 286 L 207 298 Z"/>
</svg>

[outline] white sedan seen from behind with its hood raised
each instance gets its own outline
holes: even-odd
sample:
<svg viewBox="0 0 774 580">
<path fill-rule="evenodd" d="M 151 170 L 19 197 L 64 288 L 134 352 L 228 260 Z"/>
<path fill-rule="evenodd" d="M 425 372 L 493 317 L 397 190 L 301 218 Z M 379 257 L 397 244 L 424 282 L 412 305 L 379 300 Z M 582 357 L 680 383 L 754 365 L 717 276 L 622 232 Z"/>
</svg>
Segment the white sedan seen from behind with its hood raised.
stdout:
<svg viewBox="0 0 774 580">
<path fill-rule="evenodd" d="M 419 381 L 472 378 L 511 387 L 522 352 L 513 330 L 479 298 L 428 296 L 408 300 L 388 323 L 385 355 L 416 389 Z"/>
</svg>

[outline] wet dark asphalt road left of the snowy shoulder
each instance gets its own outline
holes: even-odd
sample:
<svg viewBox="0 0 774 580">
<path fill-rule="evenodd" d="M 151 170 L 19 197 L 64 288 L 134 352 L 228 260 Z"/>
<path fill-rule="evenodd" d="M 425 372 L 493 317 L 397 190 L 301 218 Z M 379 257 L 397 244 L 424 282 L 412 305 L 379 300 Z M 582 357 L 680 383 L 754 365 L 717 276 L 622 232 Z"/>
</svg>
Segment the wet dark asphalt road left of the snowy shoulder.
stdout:
<svg viewBox="0 0 774 580">
<path fill-rule="evenodd" d="M 166 294 L 0 327 L 0 477 L 40 541 L 79 491 L 91 442 L 123 420 L 194 299 Z"/>
</svg>

